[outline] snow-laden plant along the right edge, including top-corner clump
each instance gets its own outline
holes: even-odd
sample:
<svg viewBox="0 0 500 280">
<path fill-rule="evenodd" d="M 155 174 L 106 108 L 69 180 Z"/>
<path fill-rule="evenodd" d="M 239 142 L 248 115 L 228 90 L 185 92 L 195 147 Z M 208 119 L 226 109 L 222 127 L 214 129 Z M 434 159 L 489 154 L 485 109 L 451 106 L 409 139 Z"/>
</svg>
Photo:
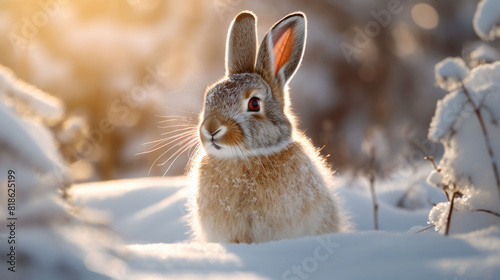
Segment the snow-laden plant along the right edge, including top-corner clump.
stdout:
<svg viewBox="0 0 500 280">
<path fill-rule="evenodd" d="M 478 5 L 474 27 L 483 39 L 499 35 L 499 4 Z M 500 222 L 500 62 L 493 62 L 497 53 L 487 46 L 470 58 L 478 65 L 473 69 L 461 58 L 446 58 L 435 69 L 437 84 L 449 93 L 438 101 L 429 128 L 444 155 L 428 182 L 442 188 L 448 202 L 437 204 L 429 221 L 446 234 Z"/>
</svg>

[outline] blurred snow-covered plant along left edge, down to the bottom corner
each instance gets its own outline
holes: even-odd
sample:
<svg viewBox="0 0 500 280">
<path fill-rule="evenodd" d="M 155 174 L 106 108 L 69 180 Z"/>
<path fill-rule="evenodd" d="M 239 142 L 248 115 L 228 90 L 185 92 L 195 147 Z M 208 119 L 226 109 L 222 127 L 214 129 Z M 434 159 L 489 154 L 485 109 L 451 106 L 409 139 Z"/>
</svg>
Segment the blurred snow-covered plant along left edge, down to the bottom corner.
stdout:
<svg viewBox="0 0 500 280">
<path fill-rule="evenodd" d="M 113 256 L 111 237 L 61 198 L 72 178 L 49 126 L 63 117 L 59 99 L 0 66 L 0 219 L 9 222 L 1 237 L 9 240 L 10 270 L 2 279 L 109 279 L 126 269 Z"/>
</svg>

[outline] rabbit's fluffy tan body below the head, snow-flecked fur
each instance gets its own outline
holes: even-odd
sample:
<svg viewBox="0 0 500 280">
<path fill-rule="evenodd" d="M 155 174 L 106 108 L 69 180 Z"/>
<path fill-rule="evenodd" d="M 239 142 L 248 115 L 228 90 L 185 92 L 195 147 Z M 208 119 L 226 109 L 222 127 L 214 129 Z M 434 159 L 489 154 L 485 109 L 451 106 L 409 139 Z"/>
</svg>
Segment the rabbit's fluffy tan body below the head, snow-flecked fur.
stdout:
<svg viewBox="0 0 500 280">
<path fill-rule="evenodd" d="M 198 215 L 212 242 L 267 242 L 339 230 L 336 203 L 308 143 L 269 156 L 199 162 Z"/>
</svg>

